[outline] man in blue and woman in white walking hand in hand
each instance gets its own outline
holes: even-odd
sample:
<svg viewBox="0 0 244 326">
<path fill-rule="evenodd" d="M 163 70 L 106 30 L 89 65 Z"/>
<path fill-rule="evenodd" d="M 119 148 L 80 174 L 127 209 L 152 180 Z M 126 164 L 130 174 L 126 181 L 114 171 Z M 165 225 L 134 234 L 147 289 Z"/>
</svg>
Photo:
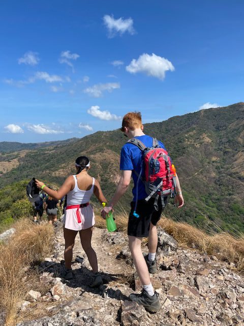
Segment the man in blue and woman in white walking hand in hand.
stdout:
<svg viewBox="0 0 244 326">
<path fill-rule="evenodd" d="M 105 219 L 106 215 L 113 209 L 121 196 L 126 193 L 132 176 L 134 181 L 132 191 L 134 198 L 131 202 L 131 212 L 128 221 L 129 248 L 143 289 L 140 294 L 130 294 L 129 297 L 130 300 L 143 305 L 146 310 L 157 312 L 160 309 L 160 302 L 149 276 L 149 273 L 153 274 L 157 271 L 155 256 L 158 245 L 158 234 L 156 225 L 160 220 L 161 213 L 167 203 L 167 198 L 173 188 L 175 192 L 175 204 L 178 208 L 184 205 L 184 199 L 176 173 L 174 173 L 170 180 L 169 177 L 162 176 L 161 179 L 158 177 L 162 166 L 168 170 L 167 175 L 172 176 L 171 160 L 165 151 L 163 143 L 144 134 L 141 114 L 136 112 L 126 114 L 123 118 L 121 131 L 128 137 L 129 142 L 121 149 L 120 180 L 114 196 L 107 206 L 103 208 L 102 216 Z M 153 146 L 156 150 L 153 149 L 152 151 L 151 148 Z M 155 153 L 159 152 L 159 156 L 155 156 Z M 149 158 L 147 154 L 149 154 Z M 148 158 L 148 165 L 145 165 L 146 158 Z M 162 159 L 164 164 L 162 164 Z M 94 213 L 90 205 L 87 204 L 89 204 L 89 198 L 92 193 L 97 196 L 101 203 L 107 201 L 103 196 L 99 182 L 91 178 L 87 173 L 89 169 L 88 159 L 86 158 L 84 160 L 78 157 L 76 159 L 76 166 L 77 175 L 68 177 L 57 192 L 49 190 L 43 182 L 38 180 L 37 185 L 44 189 L 48 195 L 56 199 L 61 198 L 64 194 L 68 194 L 68 210 L 66 210 L 67 213 L 64 221 L 66 268 L 68 270 L 71 268 L 74 239 L 79 230 L 82 247 L 87 254 L 94 273 L 97 273 L 97 256 L 90 246 L 92 227 L 95 224 Z M 155 179 L 153 174 L 156 176 Z M 147 180 L 148 177 L 149 179 L 153 177 L 151 180 L 154 182 L 145 182 L 144 179 Z M 172 182 L 174 183 L 174 187 Z M 163 191 L 165 186 L 167 187 L 167 183 L 171 188 L 169 192 Z M 148 188 L 151 190 L 148 190 Z M 86 197 L 86 202 L 83 200 L 84 197 Z M 69 209 L 69 206 L 71 209 Z M 87 218 L 88 215 L 89 218 Z M 81 220 L 80 223 L 79 218 Z M 89 222 L 85 222 L 86 220 Z M 148 237 L 149 253 L 146 257 L 143 256 L 141 250 L 143 237 Z M 96 274 L 92 286 L 99 284 L 102 284 L 102 279 L 99 274 Z"/>
</svg>

